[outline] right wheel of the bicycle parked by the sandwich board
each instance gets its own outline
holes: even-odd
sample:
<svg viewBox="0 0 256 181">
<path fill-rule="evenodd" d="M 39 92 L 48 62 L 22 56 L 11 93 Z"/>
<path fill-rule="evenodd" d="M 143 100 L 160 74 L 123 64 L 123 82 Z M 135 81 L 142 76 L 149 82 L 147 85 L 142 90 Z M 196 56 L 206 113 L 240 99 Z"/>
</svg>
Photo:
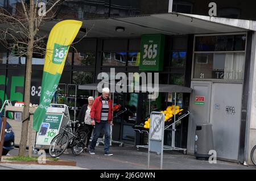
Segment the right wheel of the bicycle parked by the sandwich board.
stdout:
<svg viewBox="0 0 256 181">
<path fill-rule="evenodd" d="M 74 155 L 79 155 L 84 150 L 87 143 L 87 135 L 88 133 L 86 133 L 85 131 L 80 131 L 79 133 L 77 133 L 77 138 L 73 143 L 71 149 Z"/>
</svg>

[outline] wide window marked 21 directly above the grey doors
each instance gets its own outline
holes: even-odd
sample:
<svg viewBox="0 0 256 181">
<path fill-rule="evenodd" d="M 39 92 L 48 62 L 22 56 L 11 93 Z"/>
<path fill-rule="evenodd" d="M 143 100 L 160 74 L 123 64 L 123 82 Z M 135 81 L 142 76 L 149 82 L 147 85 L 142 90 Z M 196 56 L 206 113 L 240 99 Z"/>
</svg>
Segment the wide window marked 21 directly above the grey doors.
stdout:
<svg viewBox="0 0 256 181">
<path fill-rule="evenodd" d="M 194 78 L 242 80 L 245 53 L 196 53 Z"/>
</svg>

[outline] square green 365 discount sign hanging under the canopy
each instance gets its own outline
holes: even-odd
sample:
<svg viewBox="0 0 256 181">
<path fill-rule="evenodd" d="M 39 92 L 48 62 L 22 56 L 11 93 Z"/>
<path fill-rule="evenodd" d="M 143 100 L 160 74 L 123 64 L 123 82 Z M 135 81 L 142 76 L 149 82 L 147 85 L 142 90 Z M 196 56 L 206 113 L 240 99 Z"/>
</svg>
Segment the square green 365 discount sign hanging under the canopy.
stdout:
<svg viewBox="0 0 256 181">
<path fill-rule="evenodd" d="M 164 58 L 164 35 L 142 35 L 139 70 L 162 71 Z"/>
</svg>

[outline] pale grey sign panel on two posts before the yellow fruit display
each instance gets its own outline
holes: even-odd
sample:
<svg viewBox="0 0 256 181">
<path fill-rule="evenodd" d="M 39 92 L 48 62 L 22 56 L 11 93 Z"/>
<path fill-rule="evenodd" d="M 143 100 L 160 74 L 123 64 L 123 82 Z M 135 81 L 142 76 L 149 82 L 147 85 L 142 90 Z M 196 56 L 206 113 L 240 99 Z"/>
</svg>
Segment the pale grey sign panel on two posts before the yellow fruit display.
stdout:
<svg viewBox="0 0 256 181">
<path fill-rule="evenodd" d="M 160 169 L 163 168 L 163 138 L 164 138 L 164 113 L 150 113 L 150 133 L 148 134 L 148 162 L 147 169 L 150 167 L 150 152 L 161 154 Z"/>
</svg>

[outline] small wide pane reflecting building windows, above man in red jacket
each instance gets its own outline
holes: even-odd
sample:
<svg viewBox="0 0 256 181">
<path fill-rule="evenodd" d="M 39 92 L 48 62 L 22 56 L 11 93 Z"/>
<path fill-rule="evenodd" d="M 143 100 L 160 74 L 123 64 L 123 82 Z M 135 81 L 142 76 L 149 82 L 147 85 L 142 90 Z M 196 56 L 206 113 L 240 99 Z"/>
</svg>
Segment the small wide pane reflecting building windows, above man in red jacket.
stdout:
<svg viewBox="0 0 256 181">
<path fill-rule="evenodd" d="M 102 55 L 103 66 L 125 66 L 127 59 L 126 52 L 104 52 Z"/>
</svg>

